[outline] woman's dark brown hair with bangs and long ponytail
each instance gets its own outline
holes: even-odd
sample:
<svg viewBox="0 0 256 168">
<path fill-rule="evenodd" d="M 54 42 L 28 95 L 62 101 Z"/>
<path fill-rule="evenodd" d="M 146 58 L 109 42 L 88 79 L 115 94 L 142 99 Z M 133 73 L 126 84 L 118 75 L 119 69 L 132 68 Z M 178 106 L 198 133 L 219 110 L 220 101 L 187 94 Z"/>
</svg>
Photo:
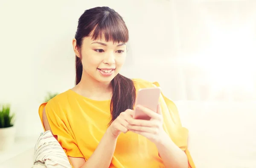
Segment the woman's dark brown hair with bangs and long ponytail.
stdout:
<svg viewBox="0 0 256 168">
<path fill-rule="evenodd" d="M 76 31 L 76 45 L 81 48 L 84 37 L 92 36 L 92 39 L 102 39 L 115 42 L 128 42 L 129 33 L 122 17 L 109 7 L 91 8 L 81 15 Z M 83 67 L 81 57 L 76 56 L 76 84 L 81 81 Z M 111 81 L 113 88 L 111 98 L 111 115 L 115 120 L 121 112 L 133 109 L 135 103 L 135 87 L 131 79 L 117 74 Z"/>
</svg>

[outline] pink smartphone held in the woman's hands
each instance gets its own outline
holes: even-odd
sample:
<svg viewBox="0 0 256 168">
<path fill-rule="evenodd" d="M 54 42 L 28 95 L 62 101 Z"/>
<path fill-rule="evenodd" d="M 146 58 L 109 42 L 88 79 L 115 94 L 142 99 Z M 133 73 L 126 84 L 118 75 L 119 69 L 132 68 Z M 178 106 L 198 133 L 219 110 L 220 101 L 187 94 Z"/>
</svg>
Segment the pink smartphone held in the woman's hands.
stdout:
<svg viewBox="0 0 256 168">
<path fill-rule="evenodd" d="M 140 109 L 136 109 L 136 106 L 142 105 L 147 107 L 148 109 L 153 110 L 154 112 L 157 112 L 157 105 L 159 102 L 160 94 L 161 94 L 160 87 L 140 89 L 138 91 L 138 95 L 135 101 L 134 118 L 141 119 L 141 120 L 150 120 L 150 117 Z"/>
</svg>

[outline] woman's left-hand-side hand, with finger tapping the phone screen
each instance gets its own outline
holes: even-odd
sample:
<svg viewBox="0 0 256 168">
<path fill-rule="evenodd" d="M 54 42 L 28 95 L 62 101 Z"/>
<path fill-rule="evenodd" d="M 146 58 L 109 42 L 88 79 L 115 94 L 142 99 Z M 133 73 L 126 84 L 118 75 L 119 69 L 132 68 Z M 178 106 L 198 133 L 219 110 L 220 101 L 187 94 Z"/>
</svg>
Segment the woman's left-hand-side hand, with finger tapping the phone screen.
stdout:
<svg viewBox="0 0 256 168">
<path fill-rule="evenodd" d="M 125 112 L 121 112 L 120 115 L 111 123 L 108 127 L 108 132 L 114 138 L 117 138 L 121 132 L 126 133 L 128 131 L 128 120 L 132 119 L 134 110 L 127 109 Z"/>
</svg>

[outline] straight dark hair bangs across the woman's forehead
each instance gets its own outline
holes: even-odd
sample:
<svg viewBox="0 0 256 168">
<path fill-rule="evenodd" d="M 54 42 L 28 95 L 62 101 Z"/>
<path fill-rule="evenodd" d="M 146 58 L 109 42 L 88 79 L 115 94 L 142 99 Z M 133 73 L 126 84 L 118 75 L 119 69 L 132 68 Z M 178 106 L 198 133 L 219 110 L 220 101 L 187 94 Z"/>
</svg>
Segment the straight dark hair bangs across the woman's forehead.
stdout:
<svg viewBox="0 0 256 168">
<path fill-rule="evenodd" d="M 122 18 L 116 18 L 110 13 L 107 13 L 95 26 L 91 36 L 93 40 L 113 41 L 113 43 L 128 42 L 129 40 L 128 28 Z"/>
</svg>

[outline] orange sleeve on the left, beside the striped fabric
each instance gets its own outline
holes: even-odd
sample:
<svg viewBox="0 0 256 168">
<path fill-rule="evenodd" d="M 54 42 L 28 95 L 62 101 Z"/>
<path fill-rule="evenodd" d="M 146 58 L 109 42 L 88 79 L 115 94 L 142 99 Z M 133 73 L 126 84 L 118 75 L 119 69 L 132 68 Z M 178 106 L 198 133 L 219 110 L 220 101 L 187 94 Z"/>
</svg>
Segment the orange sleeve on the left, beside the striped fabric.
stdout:
<svg viewBox="0 0 256 168">
<path fill-rule="evenodd" d="M 57 135 L 58 142 L 64 149 L 67 156 L 70 157 L 83 157 L 81 154 L 76 140 L 74 138 L 73 131 L 69 125 L 68 119 L 65 113 L 59 110 L 58 103 L 50 100 L 48 103 L 42 104 L 39 108 L 39 115 L 42 122 L 42 110 L 45 106 L 45 113 L 49 126 L 52 130 L 52 134 Z M 44 125 L 43 125 L 44 126 Z"/>
</svg>

